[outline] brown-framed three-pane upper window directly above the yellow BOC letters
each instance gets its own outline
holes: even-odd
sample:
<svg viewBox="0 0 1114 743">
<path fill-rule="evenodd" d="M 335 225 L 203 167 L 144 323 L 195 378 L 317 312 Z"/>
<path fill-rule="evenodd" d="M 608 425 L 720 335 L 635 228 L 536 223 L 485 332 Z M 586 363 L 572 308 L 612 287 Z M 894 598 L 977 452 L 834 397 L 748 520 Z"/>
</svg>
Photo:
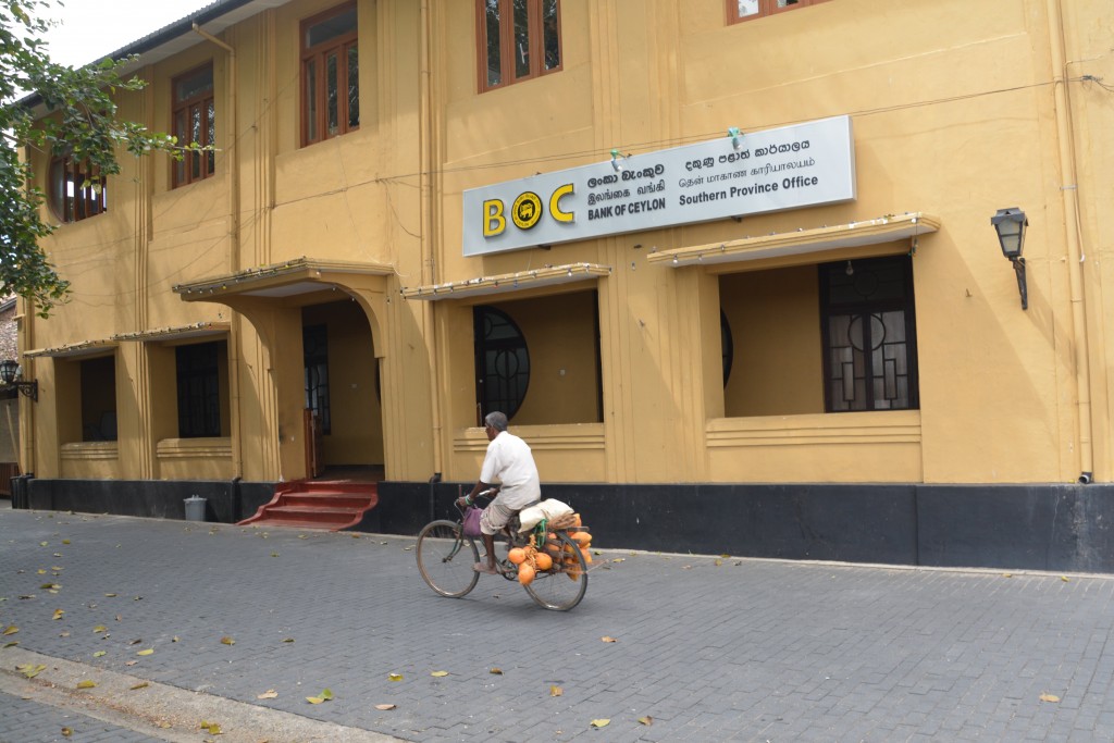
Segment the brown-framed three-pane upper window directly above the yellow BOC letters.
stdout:
<svg viewBox="0 0 1114 743">
<path fill-rule="evenodd" d="M 561 68 L 560 0 L 476 0 L 480 92 Z"/>
</svg>

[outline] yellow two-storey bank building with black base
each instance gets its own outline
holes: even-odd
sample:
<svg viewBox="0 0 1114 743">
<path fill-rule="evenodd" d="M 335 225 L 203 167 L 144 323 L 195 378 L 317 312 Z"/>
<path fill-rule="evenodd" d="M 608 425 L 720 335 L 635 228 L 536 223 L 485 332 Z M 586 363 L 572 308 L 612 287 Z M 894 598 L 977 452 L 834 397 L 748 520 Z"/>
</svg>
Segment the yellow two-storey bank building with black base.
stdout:
<svg viewBox="0 0 1114 743">
<path fill-rule="evenodd" d="M 29 154 L 72 293 L 21 320 L 28 501 L 238 520 L 316 447 L 414 532 L 504 409 L 600 544 L 1110 570 L 1112 26 L 214 3 L 121 50 L 120 98 L 214 151 L 92 195 Z"/>
</svg>

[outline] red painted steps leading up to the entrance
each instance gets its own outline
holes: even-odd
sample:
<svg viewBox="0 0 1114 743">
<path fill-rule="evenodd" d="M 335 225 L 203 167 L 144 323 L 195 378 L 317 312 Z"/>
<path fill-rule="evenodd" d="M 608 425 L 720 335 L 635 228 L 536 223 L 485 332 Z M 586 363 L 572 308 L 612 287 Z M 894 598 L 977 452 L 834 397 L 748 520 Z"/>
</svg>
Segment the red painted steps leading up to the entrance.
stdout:
<svg viewBox="0 0 1114 743">
<path fill-rule="evenodd" d="M 237 526 L 293 527 L 340 531 L 363 520 L 379 502 L 375 482 L 294 480 L 275 487 L 275 497 Z"/>
</svg>

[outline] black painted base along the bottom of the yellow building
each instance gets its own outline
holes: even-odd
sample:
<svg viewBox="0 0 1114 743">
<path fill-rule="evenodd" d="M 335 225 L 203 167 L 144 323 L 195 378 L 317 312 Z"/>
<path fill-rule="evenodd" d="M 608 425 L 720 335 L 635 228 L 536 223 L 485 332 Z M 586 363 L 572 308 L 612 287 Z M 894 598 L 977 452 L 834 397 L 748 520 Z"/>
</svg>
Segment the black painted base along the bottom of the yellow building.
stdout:
<svg viewBox="0 0 1114 743">
<path fill-rule="evenodd" d="M 271 482 L 12 481 L 16 508 L 236 522 Z M 472 483 L 463 485 L 463 491 Z M 360 531 L 416 535 L 461 485 L 381 482 Z M 1114 573 L 1114 485 L 565 485 L 598 547 L 889 565 Z"/>
</svg>

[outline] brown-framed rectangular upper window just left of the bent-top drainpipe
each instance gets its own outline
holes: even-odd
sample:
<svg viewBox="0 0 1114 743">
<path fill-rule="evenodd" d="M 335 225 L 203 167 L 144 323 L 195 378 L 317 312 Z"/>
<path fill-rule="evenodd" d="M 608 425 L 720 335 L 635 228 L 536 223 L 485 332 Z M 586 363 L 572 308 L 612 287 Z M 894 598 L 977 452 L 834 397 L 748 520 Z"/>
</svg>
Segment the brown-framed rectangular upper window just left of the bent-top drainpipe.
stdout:
<svg viewBox="0 0 1114 743">
<path fill-rule="evenodd" d="M 207 150 L 187 149 L 174 163 L 174 187 L 207 178 L 216 170 L 216 104 L 213 97 L 213 62 L 179 75 L 174 89 L 174 136 L 178 144 L 196 143 Z"/>
</svg>

